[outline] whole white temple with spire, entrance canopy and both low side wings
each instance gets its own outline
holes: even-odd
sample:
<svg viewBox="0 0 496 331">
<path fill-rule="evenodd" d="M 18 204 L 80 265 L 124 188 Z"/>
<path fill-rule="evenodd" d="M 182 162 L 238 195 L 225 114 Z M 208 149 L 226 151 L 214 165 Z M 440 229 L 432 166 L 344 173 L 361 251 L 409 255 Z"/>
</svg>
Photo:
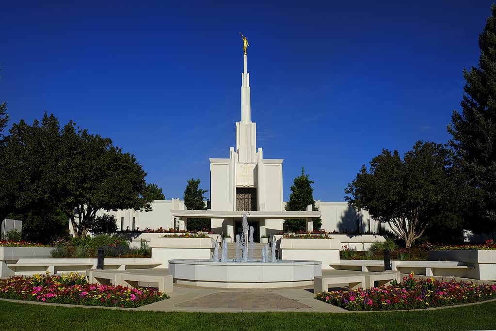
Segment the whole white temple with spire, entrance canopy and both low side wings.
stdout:
<svg viewBox="0 0 496 331">
<path fill-rule="evenodd" d="M 242 232 L 243 214 L 254 228 L 254 240 L 281 233 L 287 219 L 306 219 L 311 231 L 312 220 L 321 218 L 327 231 L 376 233 L 379 223 L 367 211 L 356 211 L 346 202 L 317 200 L 318 211 L 285 211 L 283 201 L 282 159 L 264 159 L 256 146 L 256 123 L 251 121 L 248 58 L 243 55 L 241 83 L 241 121 L 236 122 L 236 148 L 229 158 L 210 159 L 210 209 L 186 210 L 180 199 L 155 200 L 152 212 L 122 210 L 110 212 L 120 230 L 177 228 L 186 229 L 188 218 L 211 219 L 211 229 L 232 238 Z M 100 211 L 99 214 L 103 214 Z"/>
</svg>

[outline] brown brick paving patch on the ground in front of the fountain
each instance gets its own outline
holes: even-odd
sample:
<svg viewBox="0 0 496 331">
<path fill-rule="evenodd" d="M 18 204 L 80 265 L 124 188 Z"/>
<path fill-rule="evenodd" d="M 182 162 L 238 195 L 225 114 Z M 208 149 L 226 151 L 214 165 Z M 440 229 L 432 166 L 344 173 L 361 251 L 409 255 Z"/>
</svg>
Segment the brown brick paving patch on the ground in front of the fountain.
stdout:
<svg viewBox="0 0 496 331">
<path fill-rule="evenodd" d="M 188 300 L 177 307 L 212 309 L 308 309 L 298 300 L 269 292 L 216 292 Z"/>
</svg>

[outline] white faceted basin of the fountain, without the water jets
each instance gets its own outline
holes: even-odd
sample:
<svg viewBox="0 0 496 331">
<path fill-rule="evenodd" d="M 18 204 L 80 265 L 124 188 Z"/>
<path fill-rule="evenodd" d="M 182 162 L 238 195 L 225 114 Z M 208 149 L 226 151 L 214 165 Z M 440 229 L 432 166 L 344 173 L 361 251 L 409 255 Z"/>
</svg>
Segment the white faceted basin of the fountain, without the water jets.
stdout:
<svg viewBox="0 0 496 331">
<path fill-rule="evenodd" d="M 207 259 L 169 260 L 178 284 L 223 288 L 275 288 L 313 285 L 322 275 L 321 261 L 214 262 Z"/>
</svg>

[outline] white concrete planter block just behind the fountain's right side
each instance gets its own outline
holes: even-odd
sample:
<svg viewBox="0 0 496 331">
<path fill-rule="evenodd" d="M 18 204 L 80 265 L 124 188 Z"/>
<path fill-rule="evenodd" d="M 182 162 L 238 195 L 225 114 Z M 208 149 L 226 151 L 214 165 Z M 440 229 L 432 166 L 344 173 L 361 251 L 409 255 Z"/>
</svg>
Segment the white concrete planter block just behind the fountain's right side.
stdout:
<svg viewBox="0 0 496 331">
<path fill-rule="evenodd" d="M 319 260 L 322 269 L 331 269 L 330 263 L 339 262 L 341 243 L 336 239 L 287 239 L 278 241 L 282 260 Z"/>
</svg>

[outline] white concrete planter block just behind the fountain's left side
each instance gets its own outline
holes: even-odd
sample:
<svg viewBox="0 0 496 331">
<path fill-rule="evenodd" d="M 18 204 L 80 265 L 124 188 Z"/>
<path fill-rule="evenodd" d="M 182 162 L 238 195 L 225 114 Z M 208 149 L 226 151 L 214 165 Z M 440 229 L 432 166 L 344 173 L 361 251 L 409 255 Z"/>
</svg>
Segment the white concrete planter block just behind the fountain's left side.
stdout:
<svg viewBox="0 0 496 331">
<path fill-rule="evenodd" d="M 213 238 L 154 238 L 150 242 L 152 260 L 167 268 L 169 260 L 211 259 L 215 243 Z"/>
</svg>

